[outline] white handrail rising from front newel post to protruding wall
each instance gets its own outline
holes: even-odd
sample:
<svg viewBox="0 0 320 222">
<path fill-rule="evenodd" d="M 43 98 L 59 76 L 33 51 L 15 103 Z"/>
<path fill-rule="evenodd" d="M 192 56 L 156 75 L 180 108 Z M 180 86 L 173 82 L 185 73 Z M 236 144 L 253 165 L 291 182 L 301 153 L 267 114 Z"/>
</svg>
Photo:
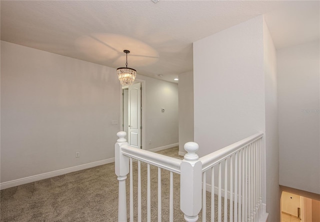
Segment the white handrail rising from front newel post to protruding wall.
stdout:
<svg viewBox="0 0 320 222">
<path fill-rule="evenodd" d="M 249 143 L 262 138 L 263 133 L 256 133 L 252 136 L 249 136 L 245 139 L 242 139 L 238 142 L 235 142 L 231 145 L 228 145 L 222 149 L 219 149 L 213 153 L 207 154 L 199 158 L 202 162 L 202 172 L 206 171 L 207 169 L 211 168 L 221 160 L 225 159 L 227 156 L 237 152 L 241 148 L 245 147 Z"/>
</svg>

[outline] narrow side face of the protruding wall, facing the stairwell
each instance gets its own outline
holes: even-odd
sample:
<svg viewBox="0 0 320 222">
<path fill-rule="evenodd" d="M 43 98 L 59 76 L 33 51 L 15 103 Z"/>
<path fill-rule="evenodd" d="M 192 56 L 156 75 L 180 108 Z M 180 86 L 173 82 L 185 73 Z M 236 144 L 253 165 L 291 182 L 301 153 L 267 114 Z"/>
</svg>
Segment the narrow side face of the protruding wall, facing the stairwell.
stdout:
<svg viewBox="0 0 320 222">
<path fill-rule="evenodd" d="M 268 221 L 280 221 L 279 146 L 276 50 L 263 20 L 263 64 L 265 92 L 265 175 Z M 264 174 L 264 173 L 263 173 Z"/>
</svg>

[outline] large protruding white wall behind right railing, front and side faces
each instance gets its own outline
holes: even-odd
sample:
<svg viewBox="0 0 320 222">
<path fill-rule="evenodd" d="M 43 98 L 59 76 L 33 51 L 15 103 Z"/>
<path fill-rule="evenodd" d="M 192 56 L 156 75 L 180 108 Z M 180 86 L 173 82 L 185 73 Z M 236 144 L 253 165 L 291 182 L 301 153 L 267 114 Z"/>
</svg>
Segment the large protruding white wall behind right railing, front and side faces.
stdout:
<svg viewBox="0 0 320 222">
<path fill-rule="evenodd" d="M 259 16 L 193 43 L 194 140 L 203 156 L 256 132 L 268 133 L 269 150 L 265 153 L 263 140 L 262 152 L 266 166 L 274 164 L 271 170 L 275 175 L 265 178 L 262 174 L 266 181 L 262 201 L 267 205 L 268 221 L 279 221 L 279 207 L 272 207 L 279 206 L 277 138 L 270 141 L 276 134 L 275 55 L 263 26 Z M 265 47 L 271 47 L 270 51 L 265 53 Z M 266 198 L 265 190 L 266 195 L 277 198 Z"/>
</svg>

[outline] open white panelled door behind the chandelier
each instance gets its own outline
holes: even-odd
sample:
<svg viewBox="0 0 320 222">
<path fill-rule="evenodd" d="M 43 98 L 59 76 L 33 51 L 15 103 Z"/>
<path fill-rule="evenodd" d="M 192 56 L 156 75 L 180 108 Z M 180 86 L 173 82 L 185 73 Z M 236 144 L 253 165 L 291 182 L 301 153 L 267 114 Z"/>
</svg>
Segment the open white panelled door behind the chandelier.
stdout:
<svg viewBox="0 0 320 222">
<path fill-rule="evenodd" d="M 128 87 L 128 143 L 141 148 L 141 83 Z"/>
</svg>

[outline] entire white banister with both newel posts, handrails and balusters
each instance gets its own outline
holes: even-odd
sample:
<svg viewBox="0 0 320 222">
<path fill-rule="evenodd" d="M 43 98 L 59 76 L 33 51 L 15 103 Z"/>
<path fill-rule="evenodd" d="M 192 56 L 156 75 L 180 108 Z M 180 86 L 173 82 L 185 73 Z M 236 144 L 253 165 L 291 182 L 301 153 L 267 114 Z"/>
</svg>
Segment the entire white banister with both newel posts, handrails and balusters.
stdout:
<svg viewBox="0 0 320 222">
<path fill-rule="evenodd" d="M 210 221 L 215 221 L 216 214 L 219 222 L 261 221 L 260 218 L 266 221 L 265 216 L 267 214 L 262 211 L 260 160 L 263 133 L 254 134 L 201 158 L 196 154 L 199 149 L 196 143 L 185 143 L 186 154 L 183 160 L 131 147 L 124 139 L 125 135 L 125 132 L 118 132 L 119 139 L 115 143 L 115 173 L 119 181 L 118 221 L 128 221 L 125 190 L 125 180 L 128 173 L 130 173 L 130 184 L 128 186 L 130 191 L 128 194 L 129 221 L 133 221 L 133 209 L 136 206 L 137 221 L 155 219 L 155 215 L 151 215 L 151 212 L 156 212 L 156 208 L 151 209 L 151 201 L 152 205 L 156 202 L 158 204 L 157 221 L 163 219 L 161 215 L 161 204 L 163 204 L 161 201 L 161 169 L 169 171 L 169 202 L 166 203 L 169 207 L 169 221 L 180 220 L 180 218 L 176 218 L 176 215 L 173 215 L 173 209 L 175 208 L 173 194 L 177 188 L 174 186 L 173 173 L 180 174 L 180 209 L 186 221 L 197 221 L 201 208 L 202 221 L 206 221 L 207 214 L 209 214 L 206 209 L 210 209 Z M 136 167 L 133 164 L 133 159 L 137 160 L 137 202 L 133 199 L 135 198 L 133 189 L 136 187 L 133 186 L 133 173 L 135 171 L 132 168 Z M 141 191 L 141 161 L 146 163 L 147 178 L 146 190 L 144 191 Z M 152 168 L 150 168 L 151 165 Z M 153 176 L 153 166 L 158 167 L 157 181 L 156 177 Z M 206 183 L 206 177 L 211 177 L 210 180 L 208 178 L 208 182 L 211 182 L 211 189 L 208 190 L 211 192 L 211 201 L 206 201 L 206 187 L 210 186 Z M 151 188 L 156 187 L 156 185 L 154 186 L 156 183 L 158 199 L 153 201 L 153 198 L 151 198 L 153 190 Z M 141 192 L 146 192 L 146 218 L 141 218 Z M 154 190 L 155 193 L 156 189 Z M 214 193 L 217 193 L 217 197 Z M 217 203 L 214 200 L 217 200 Z M 163 202 L 166 201 L 167 199 Z M 210 207 L 206 207 L 207 204 L 210 204 Z M 215 207 L 217 207 L 217 210 L 215 210 Z"/>
</svg>

